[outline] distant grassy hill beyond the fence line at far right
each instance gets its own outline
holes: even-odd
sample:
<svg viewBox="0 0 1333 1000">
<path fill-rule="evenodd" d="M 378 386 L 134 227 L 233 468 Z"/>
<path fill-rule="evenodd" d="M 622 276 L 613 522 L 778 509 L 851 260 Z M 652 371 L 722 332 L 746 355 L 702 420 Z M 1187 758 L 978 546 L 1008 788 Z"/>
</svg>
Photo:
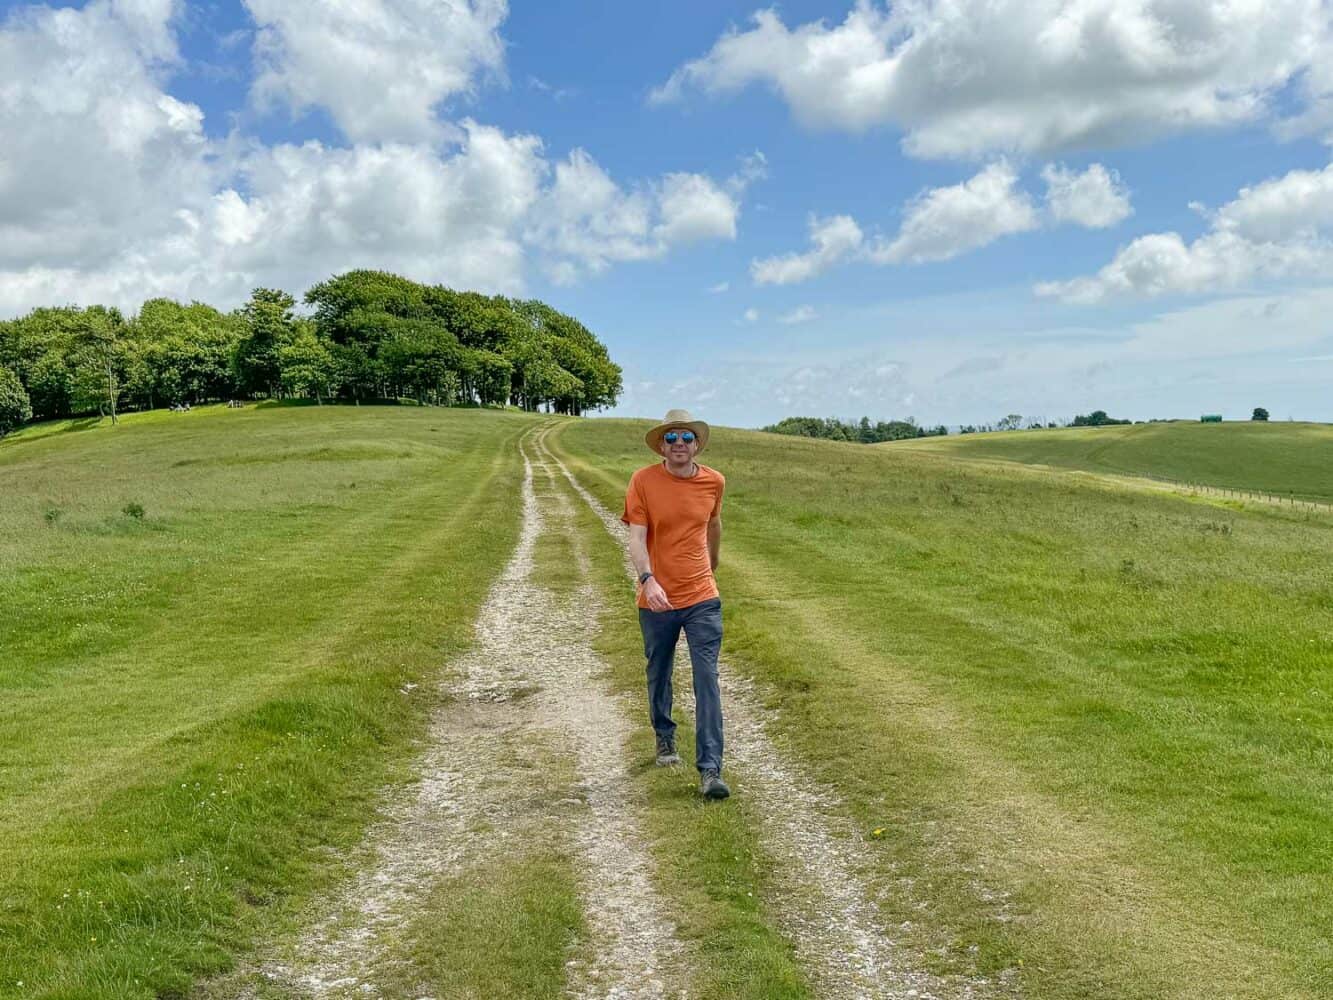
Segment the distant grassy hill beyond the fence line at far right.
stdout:
<svg viewBox="0 0 1333 1000">
<path fill-rule="evenodd" d="M 1333 500 L 1333 425 L 1169 423 L 922 437 L 882 445 Z"/>
</svg>

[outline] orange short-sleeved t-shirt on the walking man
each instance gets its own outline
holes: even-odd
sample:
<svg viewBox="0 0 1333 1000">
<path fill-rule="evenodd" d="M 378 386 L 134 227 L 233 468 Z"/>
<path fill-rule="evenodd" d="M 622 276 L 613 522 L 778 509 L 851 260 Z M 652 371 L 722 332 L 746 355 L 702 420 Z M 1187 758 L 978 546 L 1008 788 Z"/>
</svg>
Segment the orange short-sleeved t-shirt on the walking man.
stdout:
<svg viewBox="0 0 1333 1000">
<path fill-rule="evenodd" d="M 625 492 L 625 524 L 648 525 L 648 557 L 653 577 L 673 608 L 688 608 L 717 596 L 708 559 L 708 521 L 722 512 L 726 480 L 717 469 L 698 465 L 689 479 L 666 471 L 666 463 L 639 469 Z M 647 608 L 639 588 L 639 607 Z"/>
</svg>

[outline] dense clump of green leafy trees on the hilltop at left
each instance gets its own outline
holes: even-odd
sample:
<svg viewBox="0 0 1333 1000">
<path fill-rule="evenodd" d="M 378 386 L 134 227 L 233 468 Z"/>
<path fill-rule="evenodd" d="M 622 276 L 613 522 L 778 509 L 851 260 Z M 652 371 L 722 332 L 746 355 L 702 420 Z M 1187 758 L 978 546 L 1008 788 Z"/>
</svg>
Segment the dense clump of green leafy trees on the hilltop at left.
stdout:
<svg viewBox="0 0 1333 1000">
<path fill-rule="evenodd" d="M 257 288 L 223 312 L 168 299 L 0 321 L 0 435 L 25 420 L 231 399 L 611 407 L 621 371 L 587 327 L 535 299 L 351 271 L 305 293 Z"/>
</svg>

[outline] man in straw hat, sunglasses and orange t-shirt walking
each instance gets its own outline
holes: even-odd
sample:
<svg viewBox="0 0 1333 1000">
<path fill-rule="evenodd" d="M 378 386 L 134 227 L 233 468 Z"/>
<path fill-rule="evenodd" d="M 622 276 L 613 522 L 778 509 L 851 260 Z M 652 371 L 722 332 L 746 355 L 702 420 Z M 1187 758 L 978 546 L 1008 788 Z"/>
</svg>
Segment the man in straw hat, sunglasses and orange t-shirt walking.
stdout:
<svg viewBox="0 0 1333 1000">
<path fill-rule="evenodd" d="M 668 411 L 644 441 L 663 461 L 639 469 L 625 493 L 629 557 L 639 575 L 639 627 L 648 657 L 648 713 L 657 733 L 657 764 L 680 764 L 670 717 L 672 667 L 681 629 L 694 672 L 694 765 L 698 791 L 725 799 L 722 699 L 717 653 L 722 601 L 713 573 L 722 544 L 726 480 L 694 457 L 708 445 L 708 424 L 688 411 Z"/>
</svg>

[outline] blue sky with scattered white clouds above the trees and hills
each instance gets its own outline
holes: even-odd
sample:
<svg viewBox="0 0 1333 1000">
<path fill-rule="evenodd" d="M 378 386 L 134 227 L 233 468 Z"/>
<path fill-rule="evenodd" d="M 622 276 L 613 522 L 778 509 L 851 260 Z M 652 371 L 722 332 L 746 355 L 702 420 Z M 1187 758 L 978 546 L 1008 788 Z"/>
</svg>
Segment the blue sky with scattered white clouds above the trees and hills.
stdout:
<svg viewBox="0 0 1333 1000">
<path fill-rule="evenodd" d="M 539 297 L 619 416 L 1333 421 L 1324 0 L 0 0 L 0 317 Z"/>
</svg>

